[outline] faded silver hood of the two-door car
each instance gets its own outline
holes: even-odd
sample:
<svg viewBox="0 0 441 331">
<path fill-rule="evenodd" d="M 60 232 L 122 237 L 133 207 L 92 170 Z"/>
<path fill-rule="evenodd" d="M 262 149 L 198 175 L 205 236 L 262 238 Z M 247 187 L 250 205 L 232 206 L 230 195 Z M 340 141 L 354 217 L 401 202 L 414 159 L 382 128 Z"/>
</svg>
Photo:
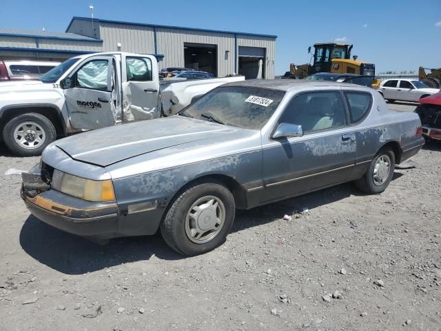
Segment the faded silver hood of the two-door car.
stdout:
<svg viewBox="0 0 441 331">
<path fill-rule="evenodd" d="M 72 159 L 105 167 L 141 154 L 240 130 L 176 115 L 85 132 L 54 144 Z"/>
</svg>

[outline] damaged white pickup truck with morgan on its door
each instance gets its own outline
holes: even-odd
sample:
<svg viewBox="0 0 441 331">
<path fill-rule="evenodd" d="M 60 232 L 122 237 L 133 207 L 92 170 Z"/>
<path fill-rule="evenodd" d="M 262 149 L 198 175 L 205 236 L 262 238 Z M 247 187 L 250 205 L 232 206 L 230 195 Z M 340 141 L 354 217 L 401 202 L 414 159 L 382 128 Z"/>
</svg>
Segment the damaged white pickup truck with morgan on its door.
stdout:
<svg viewBox="0 0 441 331">
<path fill-rule="evenodd" d="M 170 116 L 194 97 L 243 79 L 160 81 L 152 55 L 85 54 L 39 81 L 0 83 L 0 137 L 14 154 L 39 155 L 57 137 Z"/>
</svg>

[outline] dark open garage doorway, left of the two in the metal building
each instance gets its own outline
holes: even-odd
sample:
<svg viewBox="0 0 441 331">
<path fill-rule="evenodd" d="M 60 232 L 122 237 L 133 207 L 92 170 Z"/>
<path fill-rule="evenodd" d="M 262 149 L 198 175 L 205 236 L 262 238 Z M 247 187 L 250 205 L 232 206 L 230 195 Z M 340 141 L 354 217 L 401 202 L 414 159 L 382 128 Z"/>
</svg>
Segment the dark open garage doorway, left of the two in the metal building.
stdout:
<svg viewBox="0 0 441 331">
<path fill-rule="evenodd" d="M 185 68 L 192 68 L 218 76 L 217 46 L 207 43 L 184 43 Z"/>
</svg>

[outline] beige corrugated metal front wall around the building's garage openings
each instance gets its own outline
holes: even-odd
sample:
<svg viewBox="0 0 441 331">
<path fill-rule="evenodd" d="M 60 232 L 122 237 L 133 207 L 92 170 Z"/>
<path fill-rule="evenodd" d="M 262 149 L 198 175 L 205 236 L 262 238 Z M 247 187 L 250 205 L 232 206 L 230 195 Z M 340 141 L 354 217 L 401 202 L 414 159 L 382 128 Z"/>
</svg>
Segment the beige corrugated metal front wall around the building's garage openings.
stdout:
<svg viewBox="0 0 441 331">
<path fill-rule="evenodd" d="M 79 33 L 86 31 L 90 21 L 76 22 L 74 30 Z M 81 24 L 83 27 L 81 27 Z M 121 43 L 121 51 L 154 53 L 154 30 L 150 26 L 126 25 L 123 23 L 99 22 L 99 38 L 103 39 L 103 51 L 119 50 L 116 45 Z M 73 24 L 72 24 L 73 26 Z M 88 34 L 89 35 L 89 34 Z M 156 53 L 163 54 L 159 68 L 183 67 L 184 43 L 206 43 L 217 46 L 218 77 L 224 77 L 236 71 L 234 50 L 234 34 L 199 30 L 183 30 L 179 28 L 156 28 Z M 276 57 L 276 40 L 269 37 L 237 34 L 237 46 L 265 48 L 265 78 L 274 78 L 274 60 Z M 227 52 L 229 51 L 229 52 Z"/>
</svg>

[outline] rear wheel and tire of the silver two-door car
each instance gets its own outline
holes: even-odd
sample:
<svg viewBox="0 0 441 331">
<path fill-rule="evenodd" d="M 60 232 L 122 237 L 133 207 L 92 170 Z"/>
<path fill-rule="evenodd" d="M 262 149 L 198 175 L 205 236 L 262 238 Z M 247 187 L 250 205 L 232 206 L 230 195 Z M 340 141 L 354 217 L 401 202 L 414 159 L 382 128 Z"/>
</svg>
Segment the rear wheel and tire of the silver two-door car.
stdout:
<svg viewBox="0 0 441 331">
<path fill-rule="evenodd" d="M 364 176 L 355 182 L 356 186 L 369 194 L 381 193 L 391 182 L 393 170 L 395 170 L 395 154 L 389 147 L 382 148 L 369 164 Z"/>
</svg>

